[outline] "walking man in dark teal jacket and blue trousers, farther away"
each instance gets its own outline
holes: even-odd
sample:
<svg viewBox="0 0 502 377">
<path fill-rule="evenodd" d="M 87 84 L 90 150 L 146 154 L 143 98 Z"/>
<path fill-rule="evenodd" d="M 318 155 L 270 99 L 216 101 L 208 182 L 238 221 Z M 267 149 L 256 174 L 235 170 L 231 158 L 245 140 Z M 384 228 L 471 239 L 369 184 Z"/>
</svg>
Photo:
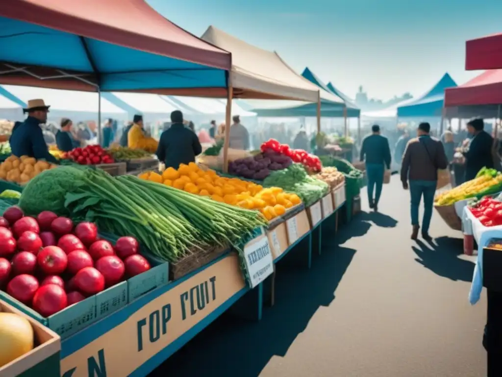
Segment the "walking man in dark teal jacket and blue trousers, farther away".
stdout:
<svg viewBox="0 0 502 377">
<path fill-rule="evenodd" d="M 385 136 L 380 135 L 379 125 L 373 125 L 371 132 L 372 134 L 366 136 L 362 141 L 360 160 L 366 163 L 369 208 L 378 211 L 378 202 L 384 184 L 385 168 L 391 168 L 391 148 L 389 147 L 389 140 Z"/>
</svg>

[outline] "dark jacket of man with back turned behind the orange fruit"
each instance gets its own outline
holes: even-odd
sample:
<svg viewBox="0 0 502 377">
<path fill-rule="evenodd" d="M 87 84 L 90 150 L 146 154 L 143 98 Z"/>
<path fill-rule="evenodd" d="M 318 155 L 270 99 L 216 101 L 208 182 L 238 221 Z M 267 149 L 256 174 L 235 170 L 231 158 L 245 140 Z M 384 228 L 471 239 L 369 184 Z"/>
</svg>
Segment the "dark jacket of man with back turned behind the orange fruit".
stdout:
<svg viewBox="0 0 502 377">
<path fill-rule="evenodd" d="M 195 162 L 195 156 L 202 153 L 199 138 L 181 123 L 174 123 L 160 136 L 157 157 L 167 167 L 177 169 L 181 163 Z"/>
</svg>

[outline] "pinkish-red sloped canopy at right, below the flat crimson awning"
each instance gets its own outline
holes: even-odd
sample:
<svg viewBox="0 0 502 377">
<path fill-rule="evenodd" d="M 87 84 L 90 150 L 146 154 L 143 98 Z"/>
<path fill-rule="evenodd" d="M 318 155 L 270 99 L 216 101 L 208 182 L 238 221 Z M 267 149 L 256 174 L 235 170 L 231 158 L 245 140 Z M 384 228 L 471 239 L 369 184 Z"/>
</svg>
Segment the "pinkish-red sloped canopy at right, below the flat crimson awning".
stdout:
<svg viewBox="0 0 502 377">
<path fill-rule="evenodd" d="M 445 107 L 500 104 L 502 69 L 484 71 L 465 84 L 445 89 Z"/>
</svg>

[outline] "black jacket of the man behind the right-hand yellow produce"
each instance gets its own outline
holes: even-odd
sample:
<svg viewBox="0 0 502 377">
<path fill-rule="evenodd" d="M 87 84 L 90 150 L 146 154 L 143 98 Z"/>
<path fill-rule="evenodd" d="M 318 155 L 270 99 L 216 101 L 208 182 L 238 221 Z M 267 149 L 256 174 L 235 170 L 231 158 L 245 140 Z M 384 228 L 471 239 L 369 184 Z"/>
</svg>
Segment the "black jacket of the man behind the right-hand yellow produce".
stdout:
<svg viewBox="0 0 502 377">
<path fill-rule="evenodd" d="M 469 149 L 463 152 L 465 156 L 465 180 L 471 180 L 482 167 L 493 167 L 491 148 L 493 138 L 487 132 L 479 132 L 470 142 Z"/>
</svg>

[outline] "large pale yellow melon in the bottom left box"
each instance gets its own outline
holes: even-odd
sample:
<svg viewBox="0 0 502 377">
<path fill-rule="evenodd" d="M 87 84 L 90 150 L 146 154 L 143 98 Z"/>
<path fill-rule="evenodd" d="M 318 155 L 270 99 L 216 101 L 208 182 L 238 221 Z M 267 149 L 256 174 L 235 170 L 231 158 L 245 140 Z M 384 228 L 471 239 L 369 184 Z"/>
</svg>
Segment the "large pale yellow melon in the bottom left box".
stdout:
<svg viewBox="0 0 502 377">
<path fill-rule="evenodd" d="M 0 313 L 0 368 L 33 349 L 31 323 L 14 313 Z"/>
</svg>

